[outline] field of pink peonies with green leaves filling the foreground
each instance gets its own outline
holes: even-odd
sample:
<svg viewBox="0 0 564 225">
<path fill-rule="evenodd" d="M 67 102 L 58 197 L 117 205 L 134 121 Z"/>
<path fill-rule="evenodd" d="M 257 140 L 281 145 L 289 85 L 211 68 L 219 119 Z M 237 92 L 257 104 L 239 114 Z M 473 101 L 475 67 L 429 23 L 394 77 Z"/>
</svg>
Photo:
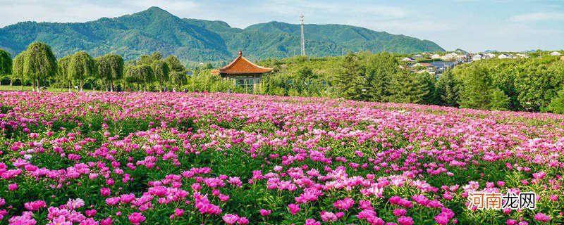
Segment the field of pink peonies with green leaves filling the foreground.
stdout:
<svg viewBox="0 0 564 225">
<path fill-rule="evenodd" d="M 564 224 L 564 116 L 0 92 L 0 224 Z M 469 193 L 537 193 L 534 210 Z"/>
</svg>

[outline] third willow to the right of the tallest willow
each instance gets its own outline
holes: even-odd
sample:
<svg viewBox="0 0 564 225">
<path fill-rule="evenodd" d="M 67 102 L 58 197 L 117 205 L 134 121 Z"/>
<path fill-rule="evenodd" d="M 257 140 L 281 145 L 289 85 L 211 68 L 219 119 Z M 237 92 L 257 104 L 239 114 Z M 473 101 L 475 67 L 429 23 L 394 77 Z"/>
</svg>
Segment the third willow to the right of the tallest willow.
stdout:
<svg viewBox="0 0 564 225">
<path fill-rule="evenodd" d="M 114 91 L 114 82 L 123 78 L 123 58 L 118 55 L 105 55 L 96 58 L 99 78 L 106 82 L 106 91 Z"/>
</svg>

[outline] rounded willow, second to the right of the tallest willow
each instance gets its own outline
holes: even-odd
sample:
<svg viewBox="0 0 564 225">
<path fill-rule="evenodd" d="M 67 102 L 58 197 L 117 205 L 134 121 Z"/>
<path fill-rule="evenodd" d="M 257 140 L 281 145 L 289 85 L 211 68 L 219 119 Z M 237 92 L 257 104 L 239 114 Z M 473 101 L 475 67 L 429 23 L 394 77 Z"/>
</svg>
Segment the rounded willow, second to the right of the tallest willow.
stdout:
<svg viewBox="0 0 564 225">
<path fill-rule="evenodd" d="M 77 79 L 80 85 L 80 92 L 84 86 L 84 79 L 94 77 L 96 70 L 94 70 L 94 59 L 85 51 L 78 51 L 71 56 L 68 63 L 68 75 Z"/>
</svg>

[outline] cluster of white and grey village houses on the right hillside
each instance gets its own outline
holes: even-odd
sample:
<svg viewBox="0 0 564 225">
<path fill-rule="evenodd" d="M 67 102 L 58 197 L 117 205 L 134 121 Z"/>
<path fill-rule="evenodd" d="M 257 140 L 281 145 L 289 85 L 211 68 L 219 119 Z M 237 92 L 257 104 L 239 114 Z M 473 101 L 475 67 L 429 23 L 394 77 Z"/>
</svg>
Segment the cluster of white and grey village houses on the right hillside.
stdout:
<svg viewBox="0 0 564 225">
<path fill-rule="evenodd" d="M 550 56 L 560 57 L 564 61 L 563 53 L 559 51 L 552 51 Z M 410 57 L 402 58 L 403 63 L 400 68 L 410 70 L 410 72 L 422 73 L 428 72 L 431 75 L 441 75 L 449 68 L 454 68 L 463 63 L 472 63 L 477 60 L 490 60 L 490 59 L 519 59 L 530 58 L 527 53 L 465 53 L 462 51 L 454 51 L 444 53 L 442 56 L 439 53 L 419 53 Z"/>
</svg>

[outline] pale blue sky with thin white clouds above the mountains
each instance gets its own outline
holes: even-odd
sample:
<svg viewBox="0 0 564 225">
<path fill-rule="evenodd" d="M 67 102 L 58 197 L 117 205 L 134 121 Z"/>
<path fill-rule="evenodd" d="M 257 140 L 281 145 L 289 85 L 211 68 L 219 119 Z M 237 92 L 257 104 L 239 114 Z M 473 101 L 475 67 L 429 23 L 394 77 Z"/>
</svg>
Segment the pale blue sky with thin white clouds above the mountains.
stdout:
<svg viewBox="0 0 564 225">
<path fill-rule="evenodd" d="M 20 21 L 85 22 L 158 6 L 180 18 L 244 28 L 272 20 L 344 24 L 429 39 L 447 50 L 564 49 L 564 0 L 452 1 L 17 1 L 0 0 L 0 27 Z M 306 39 L 307 39 L 307 30 Z"/>
</svg>

